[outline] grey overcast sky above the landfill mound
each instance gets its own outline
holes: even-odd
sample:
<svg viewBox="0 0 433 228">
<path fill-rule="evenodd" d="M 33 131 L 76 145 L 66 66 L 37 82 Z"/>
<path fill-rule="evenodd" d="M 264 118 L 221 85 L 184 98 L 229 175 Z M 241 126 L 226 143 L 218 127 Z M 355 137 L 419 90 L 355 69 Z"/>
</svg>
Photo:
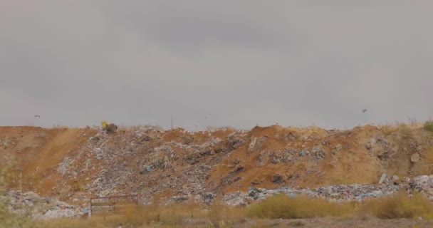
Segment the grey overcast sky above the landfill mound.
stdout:
<svg viewBox="0 0 433 228">
<path fill-rule="evenodd" d="M 0 125 L 424 121 L 432 21 L 427 0 L 0 0 Z"/>
</svg>

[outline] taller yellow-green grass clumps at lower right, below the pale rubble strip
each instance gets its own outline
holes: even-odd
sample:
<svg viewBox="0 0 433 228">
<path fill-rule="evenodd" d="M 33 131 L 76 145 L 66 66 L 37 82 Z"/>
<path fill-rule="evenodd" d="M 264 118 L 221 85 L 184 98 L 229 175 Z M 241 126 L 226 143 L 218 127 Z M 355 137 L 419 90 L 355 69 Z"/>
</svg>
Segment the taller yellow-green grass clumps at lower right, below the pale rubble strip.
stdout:
<svg viewBox="0 0 433 228">
<path fill-rule="evenodd" d="M 412 197 L 400 193 L 392 197 L 370 199 L 363 203 L 336 204 L 324 199 L 290 198 L 277 195 L 246 208 L 253 218 L 301 219 L 311 217 L 377 217 L 380 219 L 433 219 L 433 204 L 421 194 Z"/>
</svg>

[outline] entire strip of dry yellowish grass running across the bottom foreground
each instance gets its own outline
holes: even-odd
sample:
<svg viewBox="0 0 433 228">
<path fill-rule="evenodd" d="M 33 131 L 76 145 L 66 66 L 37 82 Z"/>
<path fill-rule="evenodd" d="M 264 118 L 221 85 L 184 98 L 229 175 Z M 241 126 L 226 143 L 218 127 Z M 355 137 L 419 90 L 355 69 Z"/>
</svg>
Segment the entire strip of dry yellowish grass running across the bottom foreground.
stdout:
<svg viewBox="0 0 433 228">
<path fill-rule="evenodd" d="M 433 219 L 433 204 L 422 195 L 371 199 L 363 203 L 337 204 L 324 199 L 308 197 L 290 198 L 277 195 L 249 207 L 229 207 L 219 202 L 208 207 L 198 204 L 175 204 L 166 207 L 130 207 L 122 214 L 98 215 L 88 219 L 49 219 L 32 221 L 28 217 L 9 214 L 0 204 L 0 227 L 237 227 L 245 217 L 255 221 L 254 227 L 267 227 L 261 219 L 302 219 L 311 217 L 377 217 L 380 219 L 417 218 Z M 302 227 L 293 222 L 291 227 Z"/>
</svg>

